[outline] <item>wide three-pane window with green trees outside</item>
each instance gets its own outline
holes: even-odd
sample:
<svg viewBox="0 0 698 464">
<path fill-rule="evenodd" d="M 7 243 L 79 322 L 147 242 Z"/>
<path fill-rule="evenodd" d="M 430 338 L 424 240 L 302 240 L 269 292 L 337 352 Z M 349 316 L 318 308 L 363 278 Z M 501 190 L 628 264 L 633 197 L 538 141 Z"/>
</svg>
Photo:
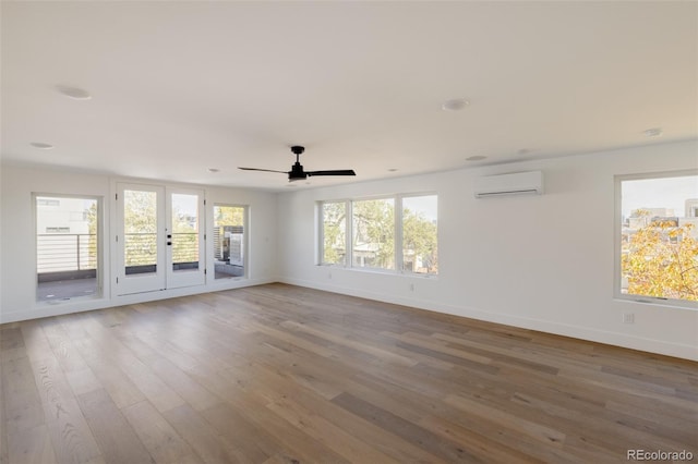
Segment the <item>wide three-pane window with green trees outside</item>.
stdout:
<svg viewBox="0 0 698 464">
<path fill-rule="evenodd" d="M 320 262 L 437 274 L 436 195 L 322 202 Z"/>
</svg>

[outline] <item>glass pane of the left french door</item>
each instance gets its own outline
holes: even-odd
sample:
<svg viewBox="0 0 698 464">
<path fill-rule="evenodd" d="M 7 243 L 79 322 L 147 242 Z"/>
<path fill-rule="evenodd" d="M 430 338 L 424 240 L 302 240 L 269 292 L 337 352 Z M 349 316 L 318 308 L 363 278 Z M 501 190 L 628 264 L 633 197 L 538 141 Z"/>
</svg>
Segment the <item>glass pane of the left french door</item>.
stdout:
<svg viewBox="0 0 698 464">
<path fill-rule="evenodd" d="M 157 193 L 123 191 L 123 253 L 125 273 L 157 271 Z"/>
</svg>

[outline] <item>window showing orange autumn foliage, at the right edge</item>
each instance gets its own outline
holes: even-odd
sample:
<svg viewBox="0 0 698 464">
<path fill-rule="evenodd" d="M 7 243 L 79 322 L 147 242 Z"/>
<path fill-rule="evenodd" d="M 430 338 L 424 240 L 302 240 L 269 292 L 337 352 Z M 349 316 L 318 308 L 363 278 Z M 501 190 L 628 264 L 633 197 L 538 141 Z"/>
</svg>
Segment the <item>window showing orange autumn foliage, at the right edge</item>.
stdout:
<svg viewBox="0 0 698 464">
<path fill-rule="evenodd" d="M 698 174 L 619 178 L 623 297 L 698 302 Z M 695 303 L 688 303 L 695 306 Z"/>
</svg>

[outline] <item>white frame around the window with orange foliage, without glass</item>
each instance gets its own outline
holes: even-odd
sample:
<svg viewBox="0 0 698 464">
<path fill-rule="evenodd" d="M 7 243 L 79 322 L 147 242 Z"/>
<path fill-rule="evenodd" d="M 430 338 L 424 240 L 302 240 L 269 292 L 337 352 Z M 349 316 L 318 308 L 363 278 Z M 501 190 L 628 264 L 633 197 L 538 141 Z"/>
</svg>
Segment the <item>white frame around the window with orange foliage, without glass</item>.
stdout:
<svg viewBox="0 0 698 464">
<path fill-rule="evenodd" d="M 684 309 L 698 309 L 698 302 L 650 295 L 623 293 L 623 183 L 652 179 L 687 178 L 698 175 L 698 169 L 619 174 L 614 176 L 614 240 L 613 240 L 613 296 L 615 300 L 651 305 L 671 306 Z"/>
</svg>

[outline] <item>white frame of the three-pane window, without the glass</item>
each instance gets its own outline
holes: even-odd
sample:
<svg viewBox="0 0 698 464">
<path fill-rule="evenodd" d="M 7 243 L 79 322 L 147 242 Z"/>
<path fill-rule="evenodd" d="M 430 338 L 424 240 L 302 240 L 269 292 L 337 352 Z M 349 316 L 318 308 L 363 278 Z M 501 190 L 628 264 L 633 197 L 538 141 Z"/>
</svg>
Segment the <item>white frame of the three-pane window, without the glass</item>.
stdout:
<svg viewBox="0 0 698 464">
<path fill-rule="evenodd" d="M 425 279 L 437 279 L 438 272 L 436 273 L 423 273 L 423 272 L 414 272 L 411 270 L 405 269 L 404 262 L 404 249 L 402 249 L 402 240 L 404 240 L 404 231 L 402 231 L 402 199 L 405 198 L 413 198 L 413 197 L 423 197 L 423 196 L 435 196 L 436 197 L 436 217 L 438 218 L 438 193 L 434 191 L 430 192 L 413 192 L 407 194 L 388 194 L 388 195 L 373 195 L 365 197 L 357 197 L 357 198 L 338 198 L 338 199 L 323 199 L 316 202 L 316 211 L 317 211 L 317 266 L 324 267 L 336 267 L 342 268 L 347 270 L 356 270 L 359 272 L 378 272 L 378 273 L 388 273 L 388 274 L 404 274 L 411 277 L 419 277 Z M 377 200 L 377 199 L 392 199 L 393 208 L 394 208 L 394 261 L 395 269 L 386 269 L 378 267 L 370 267 L 370 266 L 354 266 L 353 265 L 353 204 L 354 202 L 366 202 L 366 200 Z M 346 218 L 345 218 L 345 247 L 347 253 L 345 254 L 344 264 L 339 262 L 325 262 L 324 260 L 324 245 L 325 245 L 325 236 L 324 236 L 324 209 L 323 206 L 329 203 L 344 203 L 346 208 Z M 438 244 L 438 219 L 437 219 L 437 229 L 436 229 L 436 243 Z"/>
</svg>

